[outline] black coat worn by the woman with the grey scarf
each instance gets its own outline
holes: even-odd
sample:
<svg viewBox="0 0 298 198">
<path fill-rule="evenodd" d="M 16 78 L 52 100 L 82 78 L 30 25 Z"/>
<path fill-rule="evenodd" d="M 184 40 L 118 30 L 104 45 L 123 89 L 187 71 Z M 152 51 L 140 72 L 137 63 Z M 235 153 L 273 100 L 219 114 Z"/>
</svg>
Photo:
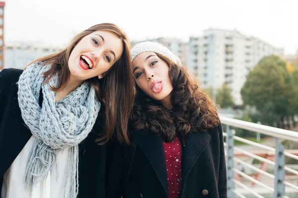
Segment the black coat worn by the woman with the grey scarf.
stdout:
<svg viewBox="0 0 298 198">
<path fill-rule="evenodd" d="M 31 138 L 18 105 L 17 82 L 23 70 L 3 69 L 0 72 L 0 192 L 3 174 Z M 42 96 L 39 101 L 42 103 Z M 88 137 L 78 145 L 78 198 L 104 198 L 108 145 L 98 146 L 95 140 L 103 130 L 104 115 L 99 116 Z M 96 133 L 97 132 L 97 133 Z M 23 179 L 23 178 L 20 178 Z"/>
</svg>

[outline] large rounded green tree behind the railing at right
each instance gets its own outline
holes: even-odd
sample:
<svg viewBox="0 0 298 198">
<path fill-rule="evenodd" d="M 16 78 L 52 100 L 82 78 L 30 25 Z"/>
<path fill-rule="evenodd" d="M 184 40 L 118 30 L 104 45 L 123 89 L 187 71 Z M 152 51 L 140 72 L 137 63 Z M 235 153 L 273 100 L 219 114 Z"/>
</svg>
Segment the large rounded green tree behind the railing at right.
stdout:
<svg viewBox="0 0 298 198">
<path fill-rule="evenodd" d="M 283 127 L 284 117 L 294 113 L 295 93 L 289 68 L 286 61 L 271 55 L 261 59 L 247 76 L 241 89 L 243 104 L 255 106 L 262 123 Z"/>
</svg>

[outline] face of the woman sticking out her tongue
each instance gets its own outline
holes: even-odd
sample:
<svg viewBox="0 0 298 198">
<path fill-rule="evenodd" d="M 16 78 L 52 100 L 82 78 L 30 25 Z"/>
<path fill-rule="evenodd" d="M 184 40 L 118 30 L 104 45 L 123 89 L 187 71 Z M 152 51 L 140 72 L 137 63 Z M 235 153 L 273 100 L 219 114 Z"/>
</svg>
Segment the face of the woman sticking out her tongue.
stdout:
<svg viewBox="0 0 298 198">
<path fill-rule="evenodd" d="M 140 89 L 163 104 L 170 102 L 173 85 L 168 64 L 155 52 L 144 52 L 133 60 L 133 72 Z"/>
</svg>

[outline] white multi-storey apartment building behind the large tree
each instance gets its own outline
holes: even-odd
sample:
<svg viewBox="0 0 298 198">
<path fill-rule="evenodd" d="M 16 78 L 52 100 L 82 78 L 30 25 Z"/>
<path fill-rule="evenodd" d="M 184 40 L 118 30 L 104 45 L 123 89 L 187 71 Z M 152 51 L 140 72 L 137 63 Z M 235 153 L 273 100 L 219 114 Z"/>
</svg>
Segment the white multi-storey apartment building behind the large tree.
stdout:
<svg viewBox="0 0 298 198">
<path fill-rule="evenodd" d="M 202 37 L 190 38 L 187 62 L 203 89 L 219 89 L 226 84 L 235 104 L 241 105 L 240 91 L 249 71 L 263 57 L 283 53 L 283 49 L 235 30 L 209 29 Z"/>
</svg>

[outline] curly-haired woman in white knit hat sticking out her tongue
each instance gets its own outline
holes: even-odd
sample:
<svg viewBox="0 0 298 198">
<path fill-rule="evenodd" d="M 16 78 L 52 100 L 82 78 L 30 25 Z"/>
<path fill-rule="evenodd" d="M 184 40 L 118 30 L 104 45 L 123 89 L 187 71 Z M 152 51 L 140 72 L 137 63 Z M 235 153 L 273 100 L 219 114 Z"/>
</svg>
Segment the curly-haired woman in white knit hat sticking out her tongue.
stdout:
<svg viewBox="0 0 298 198">
<path fill-rule="evenodd" d="M 144 42 L 131 55 L 136 80 L 132 146 L 122 154 L 123 182 L 113 184 L 111 197 L 226 198 L 215 103 L 169 49 Z"/>
</svg>

